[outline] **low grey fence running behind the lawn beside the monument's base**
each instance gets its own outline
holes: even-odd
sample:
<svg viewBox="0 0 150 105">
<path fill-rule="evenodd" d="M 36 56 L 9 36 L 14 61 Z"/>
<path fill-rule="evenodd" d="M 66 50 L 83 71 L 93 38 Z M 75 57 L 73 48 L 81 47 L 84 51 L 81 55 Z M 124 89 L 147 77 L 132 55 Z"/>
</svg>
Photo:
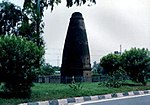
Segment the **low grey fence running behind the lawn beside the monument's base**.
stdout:
<svg viewBox="0 0 150 105">
<path fill-rule="evenodd" d="M 108 79 L 108 76 L 105 75 L 97 75 L 92 77 L 75 77 L 74 80 L 77 82 L 86 82 L 87 80 L 91 79 L 92 82 L 102 82 Z M 70 77 L 65 77 L 64 81 L 72 81 L 73 79 Z M 36 83 L 60 83 L 61 77 L 60 76 L 38 76 L 35 80 Z M 67 83 L 67 82 L 66 82 Z"/>
</svg>

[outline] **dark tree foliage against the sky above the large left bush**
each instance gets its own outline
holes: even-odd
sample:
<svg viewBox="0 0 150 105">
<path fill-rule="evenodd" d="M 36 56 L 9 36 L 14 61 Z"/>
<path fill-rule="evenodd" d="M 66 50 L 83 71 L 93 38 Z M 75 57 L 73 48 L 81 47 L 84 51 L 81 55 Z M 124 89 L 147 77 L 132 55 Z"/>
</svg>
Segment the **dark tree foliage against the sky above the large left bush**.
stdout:
<svg viewBox="0 0 150 105">
<path fill-rule="evenodd" d="M 38 46 L 44 46 L 41 36 L 44 23 L 36 8 L 23 10 L 13 3 L 0 3 L 0 35 L 14 34 L 33 41 Z"/>
</svg>

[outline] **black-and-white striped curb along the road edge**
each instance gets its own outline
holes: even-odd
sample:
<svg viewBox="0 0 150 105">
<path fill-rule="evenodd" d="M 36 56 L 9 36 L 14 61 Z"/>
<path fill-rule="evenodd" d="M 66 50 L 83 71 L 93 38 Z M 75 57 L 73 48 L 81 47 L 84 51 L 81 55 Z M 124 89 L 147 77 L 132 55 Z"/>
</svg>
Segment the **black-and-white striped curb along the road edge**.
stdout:
<svg viewBox="0 0 150 105">
<path fill-rule="evenodd" d="M 83 97 L 74 97 L 74 98 L 41 101 L 41 102 L 29 102 L 29 103 L 22 103 L 19 105 L 73 105 L 76 103 L 82 103 L 87 101 L 97 101 L 103 99 L 120 98 L 125 96 L 144 95 L 144 94 L 150 94 L 150 90 L 112 93 L 112 94 L 96 95 L 96 96 L 83 96 Z"/>
</svg>

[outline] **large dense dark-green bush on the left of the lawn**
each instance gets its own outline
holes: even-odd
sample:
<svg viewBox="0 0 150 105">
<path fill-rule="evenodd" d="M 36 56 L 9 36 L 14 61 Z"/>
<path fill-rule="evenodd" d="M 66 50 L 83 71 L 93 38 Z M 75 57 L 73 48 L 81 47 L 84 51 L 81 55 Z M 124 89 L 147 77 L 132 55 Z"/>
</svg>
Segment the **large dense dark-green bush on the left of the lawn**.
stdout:
<svg viewBox="0 0 150 105">
<path fill-rule="evenodd" d="M 16 97 L 30 96 L 37 61 L 43 54 L 43 47 L 22 37 L 0 37 L 0 81 L 4 82 L 4 91 Z"/>
</svg>

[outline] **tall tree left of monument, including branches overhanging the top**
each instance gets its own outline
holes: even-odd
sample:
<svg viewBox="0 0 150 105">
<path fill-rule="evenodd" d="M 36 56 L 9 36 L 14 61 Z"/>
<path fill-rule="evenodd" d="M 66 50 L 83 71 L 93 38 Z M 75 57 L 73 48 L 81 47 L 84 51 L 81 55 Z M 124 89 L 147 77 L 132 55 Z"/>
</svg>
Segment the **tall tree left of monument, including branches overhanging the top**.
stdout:
<svg viewBox="0 0 150 105">
<path fill-rule="evenodd" d="M 67 0 L 67 7 L 71 7 L 73 4 L 82 5 L 85 4 L 87 1 L 92 3 L 96 3 L 95 0 Z M 43 45 L 43 39 L 41 34 L 43 33 L 44 22 L 42 18 L 44 17 L 44 9 L 51 7 L 53 10 L 54 5 L 58 5 L 61 3 L 61 0 L 24 0 L 23 5 L 23 12 L 28 16 L 29 22 L 25 22 L 23 27 L 21 27 L 21 34 L 24 36 L 30 32 L 32 33 L 32 38 L 37 45 Z M 24 26 L 28 25 L 28 29 Z"/>
</svg>

